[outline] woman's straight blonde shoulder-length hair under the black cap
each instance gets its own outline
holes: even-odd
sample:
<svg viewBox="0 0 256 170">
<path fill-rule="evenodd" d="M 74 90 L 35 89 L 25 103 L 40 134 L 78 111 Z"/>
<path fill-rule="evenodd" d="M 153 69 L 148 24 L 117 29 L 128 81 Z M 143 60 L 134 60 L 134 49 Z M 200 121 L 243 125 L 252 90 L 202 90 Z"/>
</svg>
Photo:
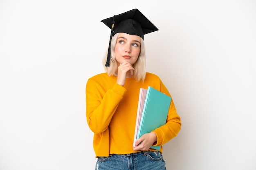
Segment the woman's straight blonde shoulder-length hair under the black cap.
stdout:
<svg viewBox="0 0 256 170">
<path fill-rule="evenodd" d="M 116 33 L 111 40 L 111 57 L 110 57 L 110 65 L 109 67 L 105 67 L 107 57 L 108 57 L 108 50 L 106 51 L 106 54 L 103 57 L 103 66 L 105 68 L 105 71 L 108 73 L 109 76 L 116 76 L 117 72 L 117 61 L 115 59 L 115 46 L 117 44 L 117 37 L 119 33 Z M 137 81 L 144 81 L 146 77 L 146 54 L 145 54 L 145 45 L 144 41 L 141 38 L 141 46 L 140 46 L 140 53 L 137 61 L 133 64 L 133 68 L 135 69 L 133 71 L 133 76 Z"/>
</svg>

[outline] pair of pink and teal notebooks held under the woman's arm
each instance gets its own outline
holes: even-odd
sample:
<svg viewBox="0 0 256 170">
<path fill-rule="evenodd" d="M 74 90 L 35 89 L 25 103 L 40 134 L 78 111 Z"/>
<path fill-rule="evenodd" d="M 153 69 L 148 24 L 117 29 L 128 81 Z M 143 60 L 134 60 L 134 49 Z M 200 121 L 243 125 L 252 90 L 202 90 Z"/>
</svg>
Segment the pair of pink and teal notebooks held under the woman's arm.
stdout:
<svg viewBox="0 0 256 170">
<path fill-rule="evenodd" d="M 148 86 L 148 89 L 140 88 L 139 102 L 136 118 L 133 146 L 145 133 L 166 124 L 166 119 L 171 104 L 171 97 Z M 151 146 L 160 150 L 161 146 Z"/>
</svg>

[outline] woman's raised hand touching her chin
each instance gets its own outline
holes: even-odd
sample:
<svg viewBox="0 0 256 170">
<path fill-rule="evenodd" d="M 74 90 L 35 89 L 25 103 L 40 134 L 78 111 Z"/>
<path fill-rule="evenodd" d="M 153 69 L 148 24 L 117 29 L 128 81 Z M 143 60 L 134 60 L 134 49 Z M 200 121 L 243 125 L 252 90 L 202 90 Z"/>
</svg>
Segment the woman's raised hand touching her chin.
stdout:
<svg viewBox="0 0 256 170">
<path fill-rule="evenodd" d="M 132 75 L 133 70 L 134 68 L 127 61 L 125 61 L 122 64 L 120 63 L 117 70 L 117 84 L 124 86 L 124 83 L 126 81 L 126 75 L 129 74 L 129 72 L 130 72 L 130 75 Z"/>
</svg>

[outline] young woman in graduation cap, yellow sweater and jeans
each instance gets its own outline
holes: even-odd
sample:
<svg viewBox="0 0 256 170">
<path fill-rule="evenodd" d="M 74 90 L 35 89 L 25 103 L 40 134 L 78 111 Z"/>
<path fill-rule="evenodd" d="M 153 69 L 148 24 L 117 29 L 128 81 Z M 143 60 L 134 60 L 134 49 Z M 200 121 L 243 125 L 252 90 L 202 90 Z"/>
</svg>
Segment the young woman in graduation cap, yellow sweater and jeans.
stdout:
<svg viewBox="0 0 256 170">
<path fill-rule="evenodd" d="M 142 135 L 133 147 L 139 89 L 151 86 L 171 96 L 157 75 L 146 72 L 144 34 L 158 29 L 138 9 L 101 22 L 111 28 L 103 60 L 106 72 L 92 76 L 86 84 L 86 117 L 94 132 L 96 169 L 164 170 L 162 145 L 181 128 L 173 100 L 166 124 Z"/>
</svg>

